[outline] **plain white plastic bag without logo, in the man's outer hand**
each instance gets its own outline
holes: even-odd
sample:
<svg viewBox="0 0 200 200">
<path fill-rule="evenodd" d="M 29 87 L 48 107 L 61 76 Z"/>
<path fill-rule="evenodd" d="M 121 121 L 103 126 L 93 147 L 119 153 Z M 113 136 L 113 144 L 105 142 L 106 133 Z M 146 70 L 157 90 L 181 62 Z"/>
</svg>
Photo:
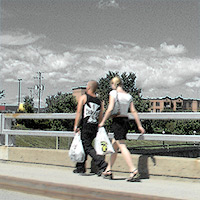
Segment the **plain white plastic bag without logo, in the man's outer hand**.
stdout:
<svg viewBox="0 0 200 200">
<path fill-rule="evenodd" d="M 69 149 L 69 157 L 74 162 L 84 162 L 85 152 L 83 149 L 81 135 L 76 133 Z"/>
</svg>

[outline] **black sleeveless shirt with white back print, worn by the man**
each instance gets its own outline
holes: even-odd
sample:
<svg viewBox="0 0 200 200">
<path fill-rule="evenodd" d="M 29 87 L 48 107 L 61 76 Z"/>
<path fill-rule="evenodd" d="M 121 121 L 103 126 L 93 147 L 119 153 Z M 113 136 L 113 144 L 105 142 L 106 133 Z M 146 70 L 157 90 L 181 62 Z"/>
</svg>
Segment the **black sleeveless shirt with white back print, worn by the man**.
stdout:
<svg viewBox="0 0 200 200">
<path fill-rule="evenodd" d="M 92 97 L 86 93 L 87 101 L 82 110 L 82 127 L 98 127 L 101 101 L 97 97 Z"/>
</svg>

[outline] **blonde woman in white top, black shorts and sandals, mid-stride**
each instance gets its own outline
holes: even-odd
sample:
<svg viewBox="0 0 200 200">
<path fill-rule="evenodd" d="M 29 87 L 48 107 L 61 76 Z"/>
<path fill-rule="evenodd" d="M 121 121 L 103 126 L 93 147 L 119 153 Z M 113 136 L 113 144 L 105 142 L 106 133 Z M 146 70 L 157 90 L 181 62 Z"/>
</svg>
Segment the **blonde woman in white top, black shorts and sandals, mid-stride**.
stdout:
<svg viewBox="0 0 200 200">
<path fill-rule="evenodd" d="M 109 94 L 109 105 L 108 109 L 105 112 L 105 115 L 99 124 L 99 126 L 104 126 L 105 121 L 111 116 L 112 110 L 114 109 L 115 102 L 119 102 L 119 115 L 113 116 L 113 124 L 112 129 L 114 132 L 114 139 L 112 140 L 113 148 L 115 150 L 115 153 L 111 154 L 110 161 L 108 163 L 108 166 L 106 170 L 102 173 L 102 176 L 104 178 L 112 179 L 112 171 L 111 168 L 117 158 L 117 151 L 120 149 L 121 154 L 126 161 L 130 176 L 126 180 L 129 182 L 135 182 L 140 181 L 139 173 L 137 168 L 134 166 L 131 158 L 131 154 L 129 150 L 126 147 L 125 140 L 126 140 L 126 134 L 128 132 L 129 128 L 129 121 L 128 121 L 128 109 L 130 108 L 131 113 L 134 116 L 134 119 L 137 123 L 138 130 L 143 134 L 145 132 L 144 128 L 142 127 L 137 111 L 133 104 L 132 96 L 128 93 L 126 93 L 122 88 L 122 82 L 119 77 L 114 77 L 111 80 L 111 87 L 112 91 Z"/>
</svg>

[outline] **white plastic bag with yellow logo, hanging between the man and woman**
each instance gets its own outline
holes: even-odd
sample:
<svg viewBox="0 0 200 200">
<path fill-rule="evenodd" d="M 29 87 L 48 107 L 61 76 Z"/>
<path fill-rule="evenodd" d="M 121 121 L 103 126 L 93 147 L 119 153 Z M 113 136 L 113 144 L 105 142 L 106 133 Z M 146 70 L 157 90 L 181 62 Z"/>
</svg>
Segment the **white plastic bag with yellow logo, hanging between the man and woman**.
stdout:
<svg viewBox="0 0 200 200">
<path fill-rule="evenodd" d="M 104 127 L 100 127 L 97 132 L 94 141 L 94 148 L 97 155 L 105 155 L 115 152 Z"/>
</svg>

